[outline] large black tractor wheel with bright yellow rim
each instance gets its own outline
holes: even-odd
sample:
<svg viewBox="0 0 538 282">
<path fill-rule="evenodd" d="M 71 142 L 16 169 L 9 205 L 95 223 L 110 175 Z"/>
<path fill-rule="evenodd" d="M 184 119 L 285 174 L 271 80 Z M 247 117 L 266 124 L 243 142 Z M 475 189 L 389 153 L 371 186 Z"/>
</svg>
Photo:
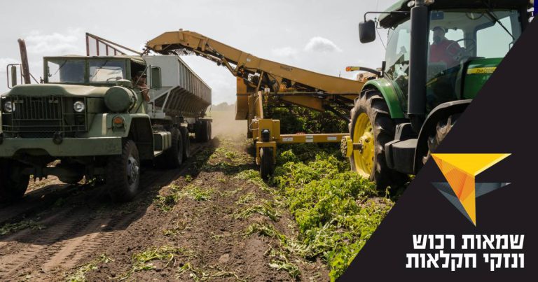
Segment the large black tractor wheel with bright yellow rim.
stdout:
<svg viewBox="0 0 538 282">
<path fill-rule="evenodd" d="M 353 140 L 351 168 L 375 181 L 379 190 L 399 186 L 407 176 L 387 167 L 385 143 L 394 139 L 394 121 L 380 92 L 366 90 L 351 111 L 350 136 Z"/>
</svg>

